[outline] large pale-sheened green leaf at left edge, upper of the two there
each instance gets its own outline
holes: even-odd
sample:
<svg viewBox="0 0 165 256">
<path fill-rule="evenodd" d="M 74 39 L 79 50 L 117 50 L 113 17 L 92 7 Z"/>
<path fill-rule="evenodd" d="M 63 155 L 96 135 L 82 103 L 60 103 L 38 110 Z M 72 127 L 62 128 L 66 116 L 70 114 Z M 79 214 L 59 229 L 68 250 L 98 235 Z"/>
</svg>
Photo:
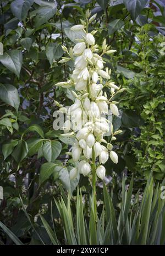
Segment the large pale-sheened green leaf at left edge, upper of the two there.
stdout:
<svg viewBox="0 0 165 256">
<path fill-rule="evenodd" d="M 1 63 L 7 67 L 10 71 L 12 71 L 15 75 L 18 76 L 20 74 L 22 62 L 23 62 L 23 55 L 19 50 L 10 50 L 4 53 L 4 55 L 0 55 Z"/>
</svg>

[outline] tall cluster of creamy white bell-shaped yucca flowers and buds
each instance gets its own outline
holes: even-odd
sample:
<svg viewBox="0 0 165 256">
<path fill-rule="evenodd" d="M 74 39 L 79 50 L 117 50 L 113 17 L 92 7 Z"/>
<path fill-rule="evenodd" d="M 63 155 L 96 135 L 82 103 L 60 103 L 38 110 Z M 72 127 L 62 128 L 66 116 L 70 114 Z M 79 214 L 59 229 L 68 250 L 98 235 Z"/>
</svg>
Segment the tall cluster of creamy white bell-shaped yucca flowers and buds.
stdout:
<svg viewBox="0 0 165 256">
<path fill-rule="evenodd" d="M 64 123 L 64 136 L 75 137 L 75 143 L 72 148 L 72 158 L 75 161 L 75 168 L 70 171 L 70 179 L 74 179 L 78 171 L 80 174 L 88 175 L 91 173 L 92 165 L 96 164 L 95 171 L 100 179 L 106 175 L 106 169 L 103 164 L 106 163 L 108 157 L 114 163 L 118 163 L 118 155 L 113 151 L 112 140 L 116 140 L 115 135 L 121 130 L 113 133 L 112 123 L 106 119 L 105 114 L 108 113 L 108 105 L 114 116 L 118 116 L 118 102 L 111 101 L 116 93 L 123 91 L 114 82 L 111 81 L 111 70 L 103 70 L 104 61 L 103 54 L 112 54 L 116 50 L 109 50 L 106 40 L 102 44 L 102 54 L 98 45 L 95 44 L 94 35 L 97 33 L 93 30 L 88 33 L 88 25 L 96 18 L 96 15 L 90 17 L 90 13 L 86 13 L 86 22 L 81 20 L 80 25 L 74 25 L 71 30 L 74 32 L 84 32 L 83 39 L 77 39 L 78 43 L 74 48 L 67 51 L 70 58 L 63 58 L 60 62 L 67 62 L 70 59 L 75 60 L 75 69 L 70 80 L 59 82 L 56 85 L 65 88 L 74 87 L 72 91 L 75 96 L 75 102 L 69 109 L 61 107 L 60 110 L 70 116 Z M 107 97 L 107 93 L 103 93 L 103 88 L 108 87 L 111 92 L 111 98 Z M 76 91 L 76 92 L 75 92 Z M 102 117 L 102 113 L 104 117 Z M 72 124 L 71 124 L 72 123 Z M 80 125 L 80 126 L 79 126 Z M 103 136 L 111 129 L 111 141 L 107 143 Z M 71 133 L 68 133 L 69 130 Z M 104 144 L 104 145 L 102 145 Z M 95 163 L 94 163 L 95 162 Z"/>
</svg>

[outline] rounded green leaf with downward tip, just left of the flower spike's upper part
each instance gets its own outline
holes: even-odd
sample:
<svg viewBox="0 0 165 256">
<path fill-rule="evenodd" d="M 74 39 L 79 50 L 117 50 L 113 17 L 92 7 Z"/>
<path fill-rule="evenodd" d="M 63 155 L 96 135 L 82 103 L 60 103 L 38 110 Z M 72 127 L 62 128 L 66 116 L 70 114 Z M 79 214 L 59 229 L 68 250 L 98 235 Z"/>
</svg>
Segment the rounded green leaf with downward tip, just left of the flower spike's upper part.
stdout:
<svg viewBox="0 0 165 256">
<path fill-rule="evenodd" d="M 51 66 L 53 64 L 53 60 L 57 60 L 61 58 L 63 55 L 63 49 L 61 45 L 57 43 L 49 43 L 46 47 L 46 56 L 48 61 L 50 62 Z"/>
</svg>

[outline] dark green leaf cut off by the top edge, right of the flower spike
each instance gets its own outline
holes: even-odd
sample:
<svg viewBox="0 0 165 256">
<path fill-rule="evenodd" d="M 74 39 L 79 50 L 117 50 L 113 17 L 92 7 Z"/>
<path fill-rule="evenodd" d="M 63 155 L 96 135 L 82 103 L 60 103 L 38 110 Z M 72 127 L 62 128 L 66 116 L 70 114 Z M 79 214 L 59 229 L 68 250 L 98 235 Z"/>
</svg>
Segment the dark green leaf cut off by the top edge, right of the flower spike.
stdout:
<svg viewBox="0 0 165 256">
<path fill-rule="evenodd" d="M 135 20 L 138 17 L 142 9 L 146 6 L 147 2 L 148 2 L 147 0 L 131 0 L 131 1 L 123 0 L 123 3 L 125 4 L 125 7 L 130 12 L 133 20 Z"/>
</svg>

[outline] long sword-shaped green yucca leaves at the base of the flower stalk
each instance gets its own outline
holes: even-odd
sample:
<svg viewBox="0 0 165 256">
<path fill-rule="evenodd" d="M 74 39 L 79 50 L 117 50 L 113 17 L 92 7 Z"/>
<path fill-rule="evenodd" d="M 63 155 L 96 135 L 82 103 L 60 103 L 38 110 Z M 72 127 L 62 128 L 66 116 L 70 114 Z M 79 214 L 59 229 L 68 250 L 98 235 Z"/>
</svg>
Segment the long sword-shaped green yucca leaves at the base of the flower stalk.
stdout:
<svg viewBox="0 0 165 256">
<path fill-rule="evenodd" d="M 55 200 L 63 223 L 65 244 L 156 245 L 165 243 L 162 226 L 165 217 L 165 200 L 160 197 L 161 187 L 159 185 L 154 190 L 152 175 L 150 175 L 141 199 L 139 192 L 133 197 L 133 179 L 129 189 L 126 190 L 125 178 L 123 178 L 122 200 L 119 202 L 118 216 L 113 204 L 113 197 L 109 195 L 105 184 L 103 191 L 105 205 L 102 206 L 103 210 L 97 217 L 97 222 L 92 206 L 90 216 L 85 215 L 83 197 L 79 189 L 76 196 L 76 220 L 70 196 L 67 201 L 62 197 L 59 201 Z M 45 218 L 40 217 L 50 236 L 51 243 L 60 244 L 57 239 L 56 227 L 53 232 Z M 88 217 L 89 223 L 86 222 Z"/>
</svg>

